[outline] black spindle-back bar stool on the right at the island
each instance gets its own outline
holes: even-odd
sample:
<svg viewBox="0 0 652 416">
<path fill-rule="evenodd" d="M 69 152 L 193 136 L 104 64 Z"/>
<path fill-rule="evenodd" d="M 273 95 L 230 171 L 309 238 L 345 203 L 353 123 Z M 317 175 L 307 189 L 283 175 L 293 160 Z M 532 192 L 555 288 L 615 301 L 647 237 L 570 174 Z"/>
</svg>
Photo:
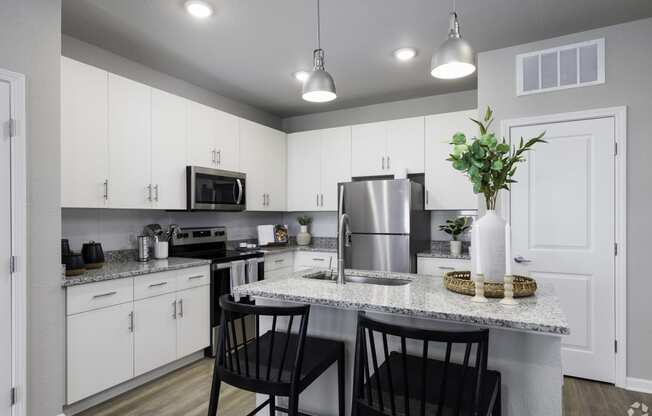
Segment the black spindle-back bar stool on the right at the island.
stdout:
<svg viewBox="0 0 652 416">
<path fill-rule="evenodd" d="M 434 343 L 442 350 L 445 346 L 443 361 L 428 358 Z M 500 416 L 500 373 L 487 370 L 488 344 L 489 330 L 429 331 L 381 323 L 360 313 L 352 415 Z M 408 345 L 416 346 L 419 355 L 408 354 Z M 452 361 L 456 352 L 458 357 L 463 352 L 462 363 Z"/>
</svg>

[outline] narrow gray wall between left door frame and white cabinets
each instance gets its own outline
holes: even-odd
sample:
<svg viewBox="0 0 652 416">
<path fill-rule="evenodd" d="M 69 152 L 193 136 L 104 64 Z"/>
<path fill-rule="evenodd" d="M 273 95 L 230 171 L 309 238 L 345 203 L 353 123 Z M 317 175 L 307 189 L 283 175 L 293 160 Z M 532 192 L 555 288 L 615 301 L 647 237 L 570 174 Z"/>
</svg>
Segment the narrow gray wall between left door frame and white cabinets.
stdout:
<svg viewBox="0 0 652 416">
<path fill-rule="evenodd" d="M 59 210 L 59 0 L 0 1 L 0 67 L 27 80 L 27 410 L 64 400 L 64 292 Z"/>
</svg>

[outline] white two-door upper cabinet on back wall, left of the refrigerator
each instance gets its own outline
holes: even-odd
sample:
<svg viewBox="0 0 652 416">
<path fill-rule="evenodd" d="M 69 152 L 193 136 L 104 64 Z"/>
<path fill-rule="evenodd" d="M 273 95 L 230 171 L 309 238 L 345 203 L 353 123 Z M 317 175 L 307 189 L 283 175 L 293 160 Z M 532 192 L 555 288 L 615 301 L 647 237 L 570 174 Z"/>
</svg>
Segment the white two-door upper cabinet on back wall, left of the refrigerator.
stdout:
<svg viewBox="0 0 652 416">
<path fill-rule="evenodd" d="M 350 180 L 350 127 L 288 135 L 288 211 L 337 211 L 337 184 Z"/>
</svg>

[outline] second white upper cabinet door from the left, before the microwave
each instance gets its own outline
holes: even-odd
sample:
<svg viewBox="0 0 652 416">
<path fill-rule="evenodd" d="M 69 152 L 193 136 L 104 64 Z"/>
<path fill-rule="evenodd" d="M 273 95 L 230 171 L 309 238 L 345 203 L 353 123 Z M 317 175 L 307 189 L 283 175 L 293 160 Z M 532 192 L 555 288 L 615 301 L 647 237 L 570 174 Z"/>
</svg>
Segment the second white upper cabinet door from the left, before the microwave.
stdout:
<svg viewBox="0 0 652 416">
<path fill-rule="evenodd" d="M 151 88 L 109 74 L 109 206 L 150 208 Z"/>
</svg>

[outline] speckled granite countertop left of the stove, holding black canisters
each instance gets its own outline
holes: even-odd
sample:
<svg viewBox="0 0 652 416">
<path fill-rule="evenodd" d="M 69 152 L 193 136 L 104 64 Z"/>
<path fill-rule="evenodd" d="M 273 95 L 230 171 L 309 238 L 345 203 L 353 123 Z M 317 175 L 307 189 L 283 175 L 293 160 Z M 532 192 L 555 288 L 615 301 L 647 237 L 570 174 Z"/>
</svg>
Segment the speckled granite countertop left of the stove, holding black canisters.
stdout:
<svg viewBox="0 0 652 416">
<path fill-rule="evenodd" d="M 102 282 L 105 280 L 123 279 L 126 277 L 144 274 L 165 272 L 169 270 L 187 269 L 189 267 L 211 264 L 210 260 L 188 259 L 170 257 L 165 260 L 150 260 L 139 262 L 136 260 L 109 261 L 101 269 L 87 270 L 80 276 L 66 277 L 65 273 L 61 285 L 63 287 L 83 285 L 87 283 Z"/>
</svg>

